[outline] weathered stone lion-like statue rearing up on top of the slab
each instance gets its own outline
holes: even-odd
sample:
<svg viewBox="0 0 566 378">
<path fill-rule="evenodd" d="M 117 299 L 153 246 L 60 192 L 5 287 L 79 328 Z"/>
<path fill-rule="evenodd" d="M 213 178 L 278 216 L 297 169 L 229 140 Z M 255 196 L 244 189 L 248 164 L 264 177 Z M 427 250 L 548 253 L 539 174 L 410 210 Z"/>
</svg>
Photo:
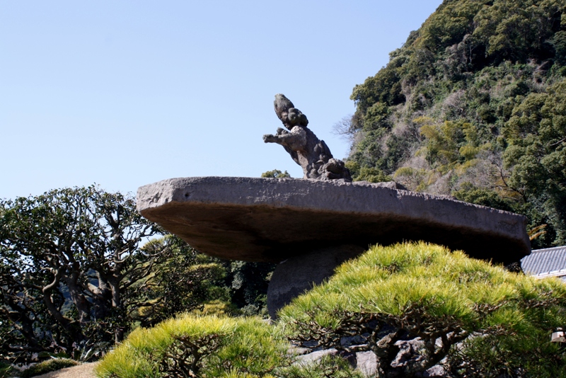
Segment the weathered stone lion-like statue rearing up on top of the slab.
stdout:
<svg viewBox="0 0 566 378">
<path fill-rule="evenodd" d="M 308 125 L 306 115 L 295 108 L 289 98 L 279 93 L 275 95 L 273 105 L 277 118 L 289 131 L 279 127 L 275 135 L 263 136 L 265 143 L 281 144 L 295 163 L 303 168 L 303 178 L 317 180 L 344 178 L 352 181 L 350 171 L 344 166 L 344 162 L 334 159 L 326 143 L 306 127 Z"/>
</svg>

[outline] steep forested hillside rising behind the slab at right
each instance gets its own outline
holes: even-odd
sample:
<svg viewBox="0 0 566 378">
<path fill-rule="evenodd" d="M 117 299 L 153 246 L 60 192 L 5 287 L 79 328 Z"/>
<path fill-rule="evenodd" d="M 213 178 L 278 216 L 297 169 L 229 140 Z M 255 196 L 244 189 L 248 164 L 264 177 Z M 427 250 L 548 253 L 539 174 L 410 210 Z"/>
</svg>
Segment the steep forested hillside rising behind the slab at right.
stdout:
<svg viewBox="0 0 566 378">
<path fill-rule="evenodd" d="M 566 1 L 445 0 L 354 87 L 354 179 L 525 214 L 566 244 Z"/>
</svg>

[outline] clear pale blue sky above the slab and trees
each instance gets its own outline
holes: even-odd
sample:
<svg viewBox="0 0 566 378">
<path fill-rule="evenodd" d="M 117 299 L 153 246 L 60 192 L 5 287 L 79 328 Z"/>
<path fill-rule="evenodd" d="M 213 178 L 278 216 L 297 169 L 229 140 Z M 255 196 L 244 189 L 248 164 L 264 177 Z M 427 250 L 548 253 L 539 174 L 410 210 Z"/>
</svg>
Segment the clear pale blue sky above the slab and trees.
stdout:
<svg viewBox="0 0 566 378">
<path fill-rule="evenodd" d="M 337 158 L 352 88 L 441 0 L 0 1 L 0 197 L 302 171 L 284 93 Z"/>
</svg>

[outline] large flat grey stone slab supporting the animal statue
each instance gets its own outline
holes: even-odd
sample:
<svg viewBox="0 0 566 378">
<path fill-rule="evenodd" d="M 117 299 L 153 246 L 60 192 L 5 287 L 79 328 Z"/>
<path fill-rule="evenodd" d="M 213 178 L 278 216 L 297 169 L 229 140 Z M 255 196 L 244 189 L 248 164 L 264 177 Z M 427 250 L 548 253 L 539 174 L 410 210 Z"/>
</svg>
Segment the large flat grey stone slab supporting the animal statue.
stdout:
<svg viewBox="0 0 566 378">
<path fill-rule="evenodd" d="M 530 252 L 525 217 L 394 183 L 292 178 L 172 178 L 145 185 L 137 207 L 203 253 L 279 262 L 337 245 L 424 240 L 496 263 Z"/>
</svg>

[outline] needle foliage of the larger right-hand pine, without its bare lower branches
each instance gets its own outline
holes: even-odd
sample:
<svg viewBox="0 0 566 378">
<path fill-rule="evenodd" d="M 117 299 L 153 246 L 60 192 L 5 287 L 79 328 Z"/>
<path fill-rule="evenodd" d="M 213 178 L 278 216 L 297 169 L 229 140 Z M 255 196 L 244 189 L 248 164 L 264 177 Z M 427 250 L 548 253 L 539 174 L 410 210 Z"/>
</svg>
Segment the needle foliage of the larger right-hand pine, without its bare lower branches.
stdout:
<svg viewBox="0 0 566 378">
<path fill-rule="evenodd" d="M 566 285 L 558 279 L 509 273 L 420 242 L 374 246 L 342 264 L 328 282 L 294 299 L 279 316 L 293 335 L 297 324 L 311 321 L 335 329 L 345 311 L 403 319 L 418 308 L 430 324 L 454 319 L 470 335 L 488 335 L 468 338 L 466 348 L 455 351 L 458 358 L 478 366 L 505 360 L 509 371 L 521 367 L 533 377 L 566 377 L 566 355 L 550 343 L 550 333 L 566 324 L 565 304 Z M 486 348 L 495 349 L 483 353 Z M 485 374 L 491 376 L 489 368 Z"/>
</svg>

